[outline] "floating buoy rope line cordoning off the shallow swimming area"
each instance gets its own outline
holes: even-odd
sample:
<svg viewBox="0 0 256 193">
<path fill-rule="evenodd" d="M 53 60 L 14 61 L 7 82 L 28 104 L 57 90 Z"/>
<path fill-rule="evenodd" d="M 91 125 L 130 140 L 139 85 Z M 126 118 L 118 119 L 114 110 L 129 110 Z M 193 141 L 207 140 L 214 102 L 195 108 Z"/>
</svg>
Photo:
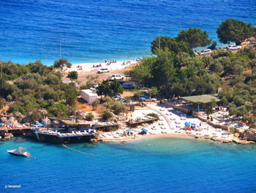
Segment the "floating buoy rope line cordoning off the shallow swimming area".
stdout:
<svg viewBox="0 0 256 193">
<path fill-rule="evenodd" d="M 69 150 L 78 152 L 80 154 L 86 154 L 94 156 L 93 154 L 86 153 L 84 151 L 78 151 L 74 148 L 70 148 L 67 145 L 62 145 Z M 227 154 L 227 151 L 194 151 L 194 152 L 162 152 L 162 153 L 124 153 L 124 154 L 97 154 L 97 156 L 182 156 L 191 154 Z M 256 153 L 256 151 L 232 151 L 231 153 Z"/>
</svg>

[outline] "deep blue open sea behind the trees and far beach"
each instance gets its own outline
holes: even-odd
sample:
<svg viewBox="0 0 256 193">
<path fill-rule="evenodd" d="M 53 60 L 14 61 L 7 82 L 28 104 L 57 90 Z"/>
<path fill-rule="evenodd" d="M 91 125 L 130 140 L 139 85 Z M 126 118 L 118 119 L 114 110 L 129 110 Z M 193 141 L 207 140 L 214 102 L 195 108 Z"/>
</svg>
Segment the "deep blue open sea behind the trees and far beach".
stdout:
<svg viewBox="0 0 256 193">
<path fill-rule="evenodd" d="M 150 55 L 150 42 L 199 27 L 217 40 L 227 18 L 256 23 L 255 0 L 0 0 L 0 59 L 53 64 Z"/>
</svg>

